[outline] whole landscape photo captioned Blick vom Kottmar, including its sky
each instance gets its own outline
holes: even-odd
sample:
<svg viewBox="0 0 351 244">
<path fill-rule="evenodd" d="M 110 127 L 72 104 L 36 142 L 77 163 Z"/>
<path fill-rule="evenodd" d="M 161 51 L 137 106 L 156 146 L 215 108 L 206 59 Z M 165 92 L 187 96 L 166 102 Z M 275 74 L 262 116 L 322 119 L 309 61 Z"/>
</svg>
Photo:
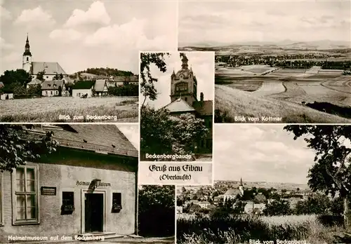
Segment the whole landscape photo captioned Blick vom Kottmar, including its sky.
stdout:
<svg viewBox="0 0 351 244">
<path fill-rule="evenodd" d="M 350 1 L 180 1 L 178 50 L 216 52 L 215 123 L 351 123 Z"/>
</svg>

